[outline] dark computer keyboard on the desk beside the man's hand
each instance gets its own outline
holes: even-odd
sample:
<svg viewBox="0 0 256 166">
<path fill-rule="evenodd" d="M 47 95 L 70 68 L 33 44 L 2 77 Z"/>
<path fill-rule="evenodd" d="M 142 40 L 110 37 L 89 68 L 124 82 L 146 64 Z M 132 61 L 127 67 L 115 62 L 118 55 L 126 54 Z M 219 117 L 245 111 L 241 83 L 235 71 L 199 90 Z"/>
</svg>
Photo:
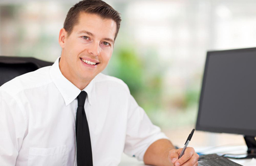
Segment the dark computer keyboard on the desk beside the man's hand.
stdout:
<svg viewBox="0 0 256 166">
<path fill-rule="evenodd" d="M 217 154 L 200 155 L 198 166 L 243 166 Z"/>
</svg>

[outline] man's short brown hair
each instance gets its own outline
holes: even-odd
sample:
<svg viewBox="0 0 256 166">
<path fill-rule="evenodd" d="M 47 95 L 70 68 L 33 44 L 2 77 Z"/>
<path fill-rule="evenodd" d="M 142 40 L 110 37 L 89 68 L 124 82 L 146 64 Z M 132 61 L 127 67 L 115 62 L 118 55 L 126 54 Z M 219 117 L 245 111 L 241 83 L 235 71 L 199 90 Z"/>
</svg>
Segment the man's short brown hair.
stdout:
<svg viewBox="0 0 256 166">
<path fill-rule="evenodd" d="M 83 0 L 76 3 L 67 13 L 67 17 L 64 22 L 64 29 L 69 36 L 73 30 L 73 27 L 78 23 L 78 17 L 81 12 L 97 14 L 102 18 L 109 18 L 116 22 L 116 34 L 120 28 L 121 17 L 120 13 L 115 11 L 109 4 L 101 0 Z"/>
</svg>

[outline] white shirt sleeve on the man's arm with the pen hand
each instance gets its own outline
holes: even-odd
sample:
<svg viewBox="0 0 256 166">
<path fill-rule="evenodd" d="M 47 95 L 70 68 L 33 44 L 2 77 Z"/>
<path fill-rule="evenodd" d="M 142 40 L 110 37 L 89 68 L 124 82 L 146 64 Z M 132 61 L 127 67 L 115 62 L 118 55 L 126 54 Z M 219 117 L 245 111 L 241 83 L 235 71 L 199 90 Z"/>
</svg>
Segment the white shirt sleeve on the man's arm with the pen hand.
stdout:
<svg viewBox="0 0 256 166">
<path fill-rule="evenodd" d="M 124 153 L 143 160 L 147 148 L 163 138 L 169 139 L 159 127 L 152 124 L 145 111 L 130 95 Z"/>
</svg>

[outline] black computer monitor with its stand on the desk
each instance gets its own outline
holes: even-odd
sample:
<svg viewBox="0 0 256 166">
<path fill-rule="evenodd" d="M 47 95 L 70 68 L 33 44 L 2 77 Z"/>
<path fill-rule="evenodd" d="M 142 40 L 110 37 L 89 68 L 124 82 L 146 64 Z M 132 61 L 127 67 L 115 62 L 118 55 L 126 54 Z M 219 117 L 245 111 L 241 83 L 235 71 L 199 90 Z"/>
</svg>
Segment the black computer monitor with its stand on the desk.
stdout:
<svg viewBox="0 0 256 166">
<path fill-rule="evenodd" d="M 256 48 L 207 52 L 196 130 L 243 134 L 256 157 Z"/>
</svg>

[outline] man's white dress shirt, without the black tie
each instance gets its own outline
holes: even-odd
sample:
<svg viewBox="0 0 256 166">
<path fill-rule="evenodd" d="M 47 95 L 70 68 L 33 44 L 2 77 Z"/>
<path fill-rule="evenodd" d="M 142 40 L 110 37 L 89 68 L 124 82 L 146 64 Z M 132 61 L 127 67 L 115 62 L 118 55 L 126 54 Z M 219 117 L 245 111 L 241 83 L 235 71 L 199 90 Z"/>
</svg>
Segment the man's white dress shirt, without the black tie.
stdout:
<svg viewBox="0 0 256 166">
<path fill-rule="evenodd" d="M 59 59 L 0 87 L 0 165 L 76 164 L 77 95 Z M 122 152 L 143 160 L 149 145 L 167 138 L 120 79 L 98 74 L 85 89 L 93 165 L 118 165 Z"/>
</svg>

